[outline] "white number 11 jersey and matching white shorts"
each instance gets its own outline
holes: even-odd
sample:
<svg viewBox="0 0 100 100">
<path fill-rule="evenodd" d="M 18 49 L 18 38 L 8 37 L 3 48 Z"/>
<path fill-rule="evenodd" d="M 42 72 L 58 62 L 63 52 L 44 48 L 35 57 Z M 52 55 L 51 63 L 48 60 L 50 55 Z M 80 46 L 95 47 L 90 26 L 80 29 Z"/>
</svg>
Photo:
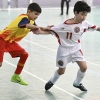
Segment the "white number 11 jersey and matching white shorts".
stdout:
<svg viewBox="0 0 100 100">
<path fill-rule="evenodd" d="M 52 34 L 57 37 L 59 42 L 56 64 L 59 68 L 64 69 L 71 61 L 85 61 L 81 50 L 80 38 L 84 32 L 97 29 L 95 25 L 86 20 L 77 24 L 69 24 L 68 22 L 71 20 L 74 19 L 66 20 L 64 23 L 51 28 Z"/>
</svg>

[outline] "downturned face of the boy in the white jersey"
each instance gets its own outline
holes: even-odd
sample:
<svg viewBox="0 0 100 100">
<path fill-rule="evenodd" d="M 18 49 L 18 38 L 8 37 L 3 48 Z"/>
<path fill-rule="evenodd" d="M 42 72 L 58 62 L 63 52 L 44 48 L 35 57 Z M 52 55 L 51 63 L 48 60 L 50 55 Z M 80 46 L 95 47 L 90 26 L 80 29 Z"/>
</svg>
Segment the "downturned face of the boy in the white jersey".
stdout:
<svg viewBox="0 0 100 100">
<path fill-rule="evenodd" d="M 88 14 L 88 12 L 82 11 L 82 12 L 77 13 L 75 11 L 75 17 L 76 17 L 77 22 L 80 22 L 80 23 L 83 22 L 86 19 L 87 14 Z"/>
</svg>

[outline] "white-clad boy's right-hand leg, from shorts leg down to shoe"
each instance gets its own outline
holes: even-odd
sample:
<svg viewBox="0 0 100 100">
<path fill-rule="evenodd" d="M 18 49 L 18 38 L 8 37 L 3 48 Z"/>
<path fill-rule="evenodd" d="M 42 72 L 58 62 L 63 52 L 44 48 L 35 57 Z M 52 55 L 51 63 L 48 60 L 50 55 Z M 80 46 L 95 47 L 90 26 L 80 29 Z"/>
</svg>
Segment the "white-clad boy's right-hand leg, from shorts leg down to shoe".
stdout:
<svg viewBox="0 0 100 100">
<path fill-rule="evenodd" d="M 79 50 L 73 55 L 73 61 L 76 61 L 80 69 L 77 72 L 77 77 L 73 83 L 73 86 L 79 88 L 82 91 L 87 91 L 87 89 L 80 83 L 84 78 L 85 72 L 87 70 L 87 64 L 82 54 L 82 51 Z"/>
</svg>

